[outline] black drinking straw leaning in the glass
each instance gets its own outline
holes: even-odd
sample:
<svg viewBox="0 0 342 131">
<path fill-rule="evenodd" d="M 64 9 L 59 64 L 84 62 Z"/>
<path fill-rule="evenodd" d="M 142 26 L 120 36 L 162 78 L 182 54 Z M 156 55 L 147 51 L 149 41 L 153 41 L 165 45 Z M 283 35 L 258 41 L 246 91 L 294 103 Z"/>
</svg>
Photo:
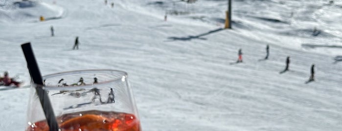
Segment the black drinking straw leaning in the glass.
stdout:
<svg viewBox="0 0 342 131">
<path fill-rule="evenodd" d="M 39 100 L 41 101 L 41 105 L 43 107 L 46 121 L 50 128 L 50 131 L 59 131 L 58 123 L 53 112 L 50 99 L 47 95 L 46 90 L 43 87 L 42 75 L 39 71 L 36 58 L 34 57 L 31 43 L 22 44 L 22 49 L 27 62 L 28 71 L 31 75 L 31 79 L 33 80 L 33 83 L 36 84 L 37 95 L 39 97 Z"/>
</svg>

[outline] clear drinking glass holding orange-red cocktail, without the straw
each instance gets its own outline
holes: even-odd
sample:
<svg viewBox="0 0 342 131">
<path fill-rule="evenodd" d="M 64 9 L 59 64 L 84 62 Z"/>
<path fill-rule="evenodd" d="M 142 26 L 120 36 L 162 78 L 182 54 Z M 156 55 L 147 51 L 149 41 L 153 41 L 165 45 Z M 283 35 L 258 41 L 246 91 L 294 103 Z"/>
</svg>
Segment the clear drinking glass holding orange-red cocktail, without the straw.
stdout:
<svg viewBox="0 0 342 131">
<path fill-rule="evenodd" d="M 79 70 L 43 76 L 60 131 L 141 131 L 137 107 L 119 70 Z M 26 131 L 49 131 L 31 84 Z"/>
</svg>

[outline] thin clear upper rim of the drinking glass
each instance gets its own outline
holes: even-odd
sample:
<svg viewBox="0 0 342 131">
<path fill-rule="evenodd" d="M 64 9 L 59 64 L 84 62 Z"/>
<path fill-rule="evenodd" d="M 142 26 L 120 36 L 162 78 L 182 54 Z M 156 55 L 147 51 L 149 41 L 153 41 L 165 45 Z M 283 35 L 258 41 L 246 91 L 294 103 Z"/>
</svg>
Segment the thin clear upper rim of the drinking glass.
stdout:
<svg viewBox="0 0 342 131">
<path fill-rule="evenodd" d="M 42 76 L 43 80 L 47 79 L 47 78 L 51 78 L 51 77 L 56 77 L 58 75 L 63 75 L 63 74 L 68 74 L 68 73 L 74 73 L 74 72 L 80 72 L 79 74 L 82 73 L 87 73 L 87 72 L 94 72 L 94 71 L 113 71 L 113 72 L 120 72 L 122 73 L 122 77 L 117 77 L 105 82 L 101 82 L 98 83 L 96 85 L 101 85 L 101 84 L 107 84 L 107 83 L 111 83 L 111 82 L 117 82 L 117 81 L 122 81 L 122 78 L 124 77 L 124 79 L 126 79 L 128 77 L 128 74 L 126 71 L 122 71 L 122 70 L 115 70 L 115 69 L 85 69 L 85 70 L 71 70 L 71 71 L 64 71 L 64 72 L 58 72 L 58 73 L 53 73 L 53 74 L 47 74 Z M 32 84 L 34 84 L 33 82 L 31 82 Z M 34 84 L 35 85 L 35 84 Z M 77 87 L 93 87 L 94 85 L 84 85 L 84 86 L 77 86 Z M 44 84 L 44 87 L 49 87 L 49 88 L 53 88 L 53 87 L 57 87 L 57 86 L 46 86 Z"/>
</svg>

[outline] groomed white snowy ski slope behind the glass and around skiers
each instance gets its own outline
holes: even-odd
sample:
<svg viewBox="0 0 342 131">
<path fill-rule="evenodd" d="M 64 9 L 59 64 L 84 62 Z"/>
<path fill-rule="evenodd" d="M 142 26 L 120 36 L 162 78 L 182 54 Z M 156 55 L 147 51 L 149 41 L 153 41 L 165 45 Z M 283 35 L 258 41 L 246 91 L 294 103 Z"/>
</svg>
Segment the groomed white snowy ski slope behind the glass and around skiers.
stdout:
<svg viewBox="0 0 342 131">
<path fill-rule="evenodd" d="M 11 2 L 0 0 L 0 72 L 20 75 L 24 86 L 30 78 L 20 45 L 31 42 L 42 75 L 128 72 L 143 131 L 342 129 L 342 63 L 333 64 L 342 55 L 342 0 L 232 0 L 231 30 L 221 29 L 227 0 L 115 0 L 114 8 L 42 0 L 20 9 Z M 173 9 L 190 14 L 164 22 Z M 58 19 L 39 22 L 37 12 Z M 80 49 L 72 50 L 76 36 Z M 267 44 L 269 60 L 258 61 Z M 239 48 L 244 62 L 230 65 Z M 279 74 L 287 56 L 290 71 Z M 304 84 L 311 64 L 316 81 Z M 28 91 L 0 91 L 1 131 L 27 127 Z"/>
</svg>

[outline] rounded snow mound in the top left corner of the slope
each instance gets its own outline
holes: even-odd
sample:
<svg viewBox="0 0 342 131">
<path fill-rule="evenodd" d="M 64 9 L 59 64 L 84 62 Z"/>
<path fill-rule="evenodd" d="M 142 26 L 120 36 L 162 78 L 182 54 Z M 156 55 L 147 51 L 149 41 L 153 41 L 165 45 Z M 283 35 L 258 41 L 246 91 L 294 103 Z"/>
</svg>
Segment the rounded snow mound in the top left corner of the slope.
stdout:
<svg viewBox="0 0 342 131">
<path fill-rule="evenodd" d="M 52 20 L 63 14 L 62 7 L 39 1 L 9 1 L 0 6 L 0 22 L 38 22 L 40 16 Z"/>
</svg>

